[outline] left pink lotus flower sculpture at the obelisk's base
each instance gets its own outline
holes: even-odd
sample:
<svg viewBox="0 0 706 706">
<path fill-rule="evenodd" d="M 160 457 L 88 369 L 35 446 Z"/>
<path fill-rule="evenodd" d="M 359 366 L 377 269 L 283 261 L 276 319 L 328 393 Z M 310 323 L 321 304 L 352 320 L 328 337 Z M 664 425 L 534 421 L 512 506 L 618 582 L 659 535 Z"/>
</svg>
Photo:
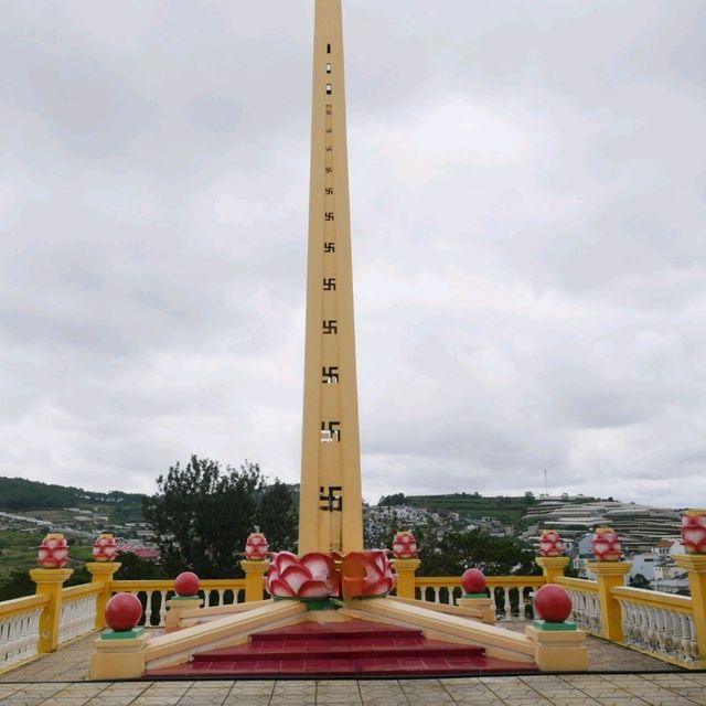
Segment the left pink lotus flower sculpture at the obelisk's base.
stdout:
<svg viewBox="0 0 706 706">
<path fill-rule="evenodd" d="M 333 558 L 311 552 L 297 558 L 291 552 L 272 554 L 267 590 L 275 598 L 328 598 L 338 593 Z"/>
</svg>

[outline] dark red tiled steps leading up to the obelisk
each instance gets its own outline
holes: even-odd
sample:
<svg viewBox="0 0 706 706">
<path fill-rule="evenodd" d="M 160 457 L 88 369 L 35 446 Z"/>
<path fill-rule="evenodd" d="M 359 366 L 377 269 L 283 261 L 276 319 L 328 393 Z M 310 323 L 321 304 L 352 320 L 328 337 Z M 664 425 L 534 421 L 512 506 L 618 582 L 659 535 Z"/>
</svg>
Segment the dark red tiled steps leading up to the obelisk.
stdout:
<svg viewBox="0 0 706 706">
<path fill-rule="evenodd" d="M 420 630 L 368 621 L 314 623 L 250 635 L 248 644 L 195 654 L 191 664 L 146 678 L 207 676 L 429 676 L 536 672 L 533 664 L 486 657 L 481 648 L 425 639 Z"/>
</svg>

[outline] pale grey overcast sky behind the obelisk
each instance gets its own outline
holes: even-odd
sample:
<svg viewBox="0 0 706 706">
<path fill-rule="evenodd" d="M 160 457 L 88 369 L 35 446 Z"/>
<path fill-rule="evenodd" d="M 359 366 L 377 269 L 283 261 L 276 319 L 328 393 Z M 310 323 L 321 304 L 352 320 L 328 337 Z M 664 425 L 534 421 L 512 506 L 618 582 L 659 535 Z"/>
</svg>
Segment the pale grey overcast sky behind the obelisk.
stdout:
<svg viewBox="0 0 706 706">
<path fill-rule="evenodd" d="M 706 3 L 344 0 L 363 488 L 706 505 Z M 0 474 L 299 478 L 312 0 L 6 0 Z"/>
</svg>

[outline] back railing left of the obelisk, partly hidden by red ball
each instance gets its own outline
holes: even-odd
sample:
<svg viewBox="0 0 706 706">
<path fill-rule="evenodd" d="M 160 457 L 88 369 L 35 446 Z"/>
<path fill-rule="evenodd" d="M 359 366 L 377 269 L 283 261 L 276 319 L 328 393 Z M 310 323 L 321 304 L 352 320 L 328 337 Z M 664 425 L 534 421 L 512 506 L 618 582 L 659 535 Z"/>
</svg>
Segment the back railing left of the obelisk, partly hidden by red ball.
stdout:
<svg viewBox="0 0 706 706">
<path fill-rule="evenodd" d="M 110 592 L 135 593 L 142 603 L 141 625 L 157 628 L 164 624 L 167 601 L 174 596 L 174 581 L 110 581 Z M 242 603 L 245 600 L 245 579 L 206 579 L 199 591 L 205 607 Z"/>
</svg>

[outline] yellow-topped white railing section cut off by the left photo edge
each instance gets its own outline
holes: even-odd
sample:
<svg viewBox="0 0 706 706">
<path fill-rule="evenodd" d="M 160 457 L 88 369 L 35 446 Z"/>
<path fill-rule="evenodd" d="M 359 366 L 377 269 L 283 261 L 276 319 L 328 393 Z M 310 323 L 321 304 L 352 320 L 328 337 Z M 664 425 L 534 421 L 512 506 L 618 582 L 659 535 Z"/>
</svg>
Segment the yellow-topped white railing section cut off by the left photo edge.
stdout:
<svg viewBox="0 0 706 706">
<path fill-rule="evenodd" d="M 0 674 L 38 655 L 40 617 L 49 596 L 0 603 Z"/>
</svg>

